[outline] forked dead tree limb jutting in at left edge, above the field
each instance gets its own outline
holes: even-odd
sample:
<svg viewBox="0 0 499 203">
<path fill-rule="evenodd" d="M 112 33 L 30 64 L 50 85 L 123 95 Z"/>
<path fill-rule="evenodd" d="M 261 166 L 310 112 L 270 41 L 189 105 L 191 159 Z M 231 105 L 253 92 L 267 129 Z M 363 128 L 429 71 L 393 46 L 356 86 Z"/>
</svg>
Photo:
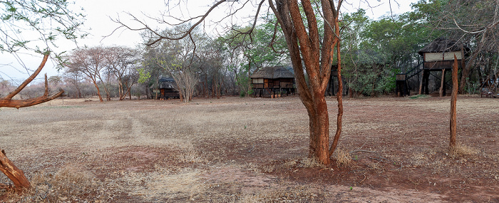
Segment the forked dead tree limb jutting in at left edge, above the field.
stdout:
<svg viewBox="0 0 499 203">
<path fill-rule="evenodd" d="M 64 90 L 59 90 L 58 93 L 49 96 L 48 95 L 47 76 L 45 75 L 45 93 L 43 93 L 42 96 L 40 96 L 38 98 L 31 98 L 31 99 L 26 99 L 26 100 L 13 100 L 12 99 L 12 98 L 14 98 L 15 95 L 19 94 L 19 92 L 21 92 L 21 90 L 26 88 L 26 85 L 31 83 L 31 81 L 33 81 L 36 78 L 36 76 L 38 76 L 38 73 L 40 73 L 43 66 L 45 66 L 47 59 L 48 59 L 48 54 L 43 56 L 43 60 L 41 61 L 40 66 L 38 66 L 36 71 L 33 74 L 31 74 L 31 76 L 29 76 L 29 78 L 24 80 L 24 82 L 21 83 L 21 85 L 19 85 L 19 87 L 17 87 L 16 90 L 12 91 L 11 93 L 9 93 L 9 95 L 6 95 L 4 98 L 0 98 L 0 108 L 1 107 L 23 108 L 23 107 L 28 107 L 28 106 L 32 106 L 32 105 L 37 105 L 37 104 L 45 103 L 45 102 L 48 102 L 49 100 L 53 100 L 55 98 L 58 98 L 64 93 Z"/>
</svg>

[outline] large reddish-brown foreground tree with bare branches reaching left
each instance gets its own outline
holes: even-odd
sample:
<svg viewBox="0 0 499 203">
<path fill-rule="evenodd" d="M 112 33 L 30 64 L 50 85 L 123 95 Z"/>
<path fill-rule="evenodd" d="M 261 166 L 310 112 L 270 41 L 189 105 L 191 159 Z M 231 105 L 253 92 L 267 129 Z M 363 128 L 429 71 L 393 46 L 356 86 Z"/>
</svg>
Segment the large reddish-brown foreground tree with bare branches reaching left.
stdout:
<svg viewBox="0 0 499 203">
<path fill-rule="evenodd" d="M 257 16 L 264 2 L 264 0 L 259 1 L 252 28 L 241 33 L 252 33 L 254 26 L 257 24 Z M 120 19 L 116 19 L 115 21 L 130 30 L 148 31 L 151 33 L 147 44 L 152 46 L 164 40 L 190 38 L 192 30 L 205 21 L 210 12 L 224 3 L 226 3 L 225 6 L 235 4 L 233 1 L 227 0 L 216 1 L 205 14 L 197 18 L 180 19 L 179 24 L 187 25 L 192 22 L 192 26 L 187 26 L 174 33 L 158 32 L 155 28 L 148 26 L 147 22 L 140 21 L 131 14 L 135 21 L 139 21 L 143 25 L 142 27 L 130 27 L 128 24 L 120 21 Z M 308 0 L 303 0 L 301 4 L 298 4 L 297 1 L 289 0 L 276 0 L 275 2 L 269 0 L 268 3 L 277 17 L 278 25 L 282 28 L 297 80 L 299 98 L 302 100 L 305 108 L 307 108 L 309 115 L 309 156 L 327 165 L 330 162 L 329 157 L 333 154 L 338 144 L 343 115 L 342 98 L 341 93 L 339 93 L 336 134 L 331 147 L 329 147 L 329 115 L 324 93 L 331 74 L 331 65 L 333 64 L 334 56 L 336 56 L 336 63 L 339 65 L 339 87 L 342 88 L 339 38 L 339 9 L 341 8 L 342 0 L 339 0 L 337 4 L 334 1 L 323 0 L 320 1 L 320 5 L 319 1 Z M 167 1 L 167 4 L 170 4 L 170 2 Z M 238 10 L 234 9 L 234 11 Z M 168 12 L 165 12 L 165 14 L 168 15 Z M 319 30 L 317 21 L 319 16 L 324 20 L 324 30 Z M 178 18 L 176 16 L 161 16 L 156 20 L 157 22 L 165 22 L 166 24 L 175 24 L 174 22 L 168 23 L 165 19 Z M 305 80 L 305 74 L 309 78 L 308 83 Z"/>
</svg>

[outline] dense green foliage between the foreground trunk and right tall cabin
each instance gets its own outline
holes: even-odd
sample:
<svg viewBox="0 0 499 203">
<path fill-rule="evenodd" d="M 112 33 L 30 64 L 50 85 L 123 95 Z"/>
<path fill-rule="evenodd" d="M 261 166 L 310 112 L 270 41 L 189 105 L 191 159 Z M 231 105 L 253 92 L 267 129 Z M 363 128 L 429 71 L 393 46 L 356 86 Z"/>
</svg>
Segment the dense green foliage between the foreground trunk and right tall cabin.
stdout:
<svg viewBox="0 0 499 203">
<path fill-rule="evenodd" d="M 343 76 L 356 95 L 379 95 L 395 89 L 395 74 L 421 61 L 418 51 L 438 34 L 428 27 L 431 6 L 422 1 L 411 11 L 371 20 L 362 9 L 345 14 L 341 53 Z"/>
</svg>

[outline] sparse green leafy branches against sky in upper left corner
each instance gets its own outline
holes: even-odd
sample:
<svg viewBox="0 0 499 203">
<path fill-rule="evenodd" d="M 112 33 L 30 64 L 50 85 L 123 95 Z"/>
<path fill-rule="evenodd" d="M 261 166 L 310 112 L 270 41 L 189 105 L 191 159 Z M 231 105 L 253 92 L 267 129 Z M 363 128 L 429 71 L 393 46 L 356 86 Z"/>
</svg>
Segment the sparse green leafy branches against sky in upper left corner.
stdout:
<svg viewBox="0 0 499 203">
<path fill-rule="evenodd" d="M 27 49 L 47 53 L 56 47 L 59 36 L 70 40 L 86 36 L 80 31 L 85 16 L 70 11 L 71 4 L 66 0 L 0 1 L 0 51 L 15 53 Z M 25 31 L 36 31 L 40 37 L 26 39 Z M 31 41 L 38 40 L 46 48 L 31 45 Z"/>
</svg>

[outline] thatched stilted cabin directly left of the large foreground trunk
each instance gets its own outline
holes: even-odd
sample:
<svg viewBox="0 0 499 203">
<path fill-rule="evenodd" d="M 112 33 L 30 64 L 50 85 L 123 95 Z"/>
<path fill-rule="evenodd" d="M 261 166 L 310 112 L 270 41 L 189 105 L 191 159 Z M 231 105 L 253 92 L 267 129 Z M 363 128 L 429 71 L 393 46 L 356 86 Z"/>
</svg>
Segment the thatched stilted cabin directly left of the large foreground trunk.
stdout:
<svg viewBox="0 0 499 203">
<path fill-rule="evenodd" d="M 291 67 L 264 67 L 249 78 L 255 97 L 294 94 L 294 73 Z"/>
</svg>

